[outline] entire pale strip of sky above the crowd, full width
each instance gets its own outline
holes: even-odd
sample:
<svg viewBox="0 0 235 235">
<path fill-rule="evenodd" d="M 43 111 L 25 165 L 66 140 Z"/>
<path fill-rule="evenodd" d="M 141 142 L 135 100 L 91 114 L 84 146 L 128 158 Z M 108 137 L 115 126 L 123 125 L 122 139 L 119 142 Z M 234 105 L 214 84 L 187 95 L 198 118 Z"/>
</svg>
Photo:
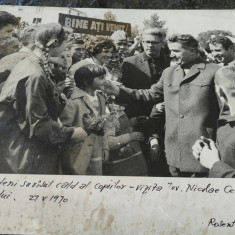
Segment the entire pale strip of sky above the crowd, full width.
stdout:
<svg viewBox="0 0 235 235">
<path fill-rule="evenodd" d="M 20 8 L 24 8 L 21 10 Z M 50 9 L 49 9 L 50 8 Z M 71 13 L 74 13 L 74 8 Z M 103 19 L 104 13 L 111 10 L 117 21 L 131 23 L 132 27 L 139 25 L 143 28 L 144 19 L 149 19 L 157 13 L 160 20 L 166 21 L 168 33 L 192 34 L 197 37 L 200 32 L 207 30 L 229 30 L 235 35 L 235 10 L 130 10 L 130 9 L 94 9 L 75 8 L 86 13 L 87 17 Z M 58 7 L 19 7 L 0 6 L 0 10 L 7 10 L 24 17 L 32 22 L 33 17 L 46 17 L 47 22 L 58 22 L 58 13 L 69 14 L 68 8 Z M 76 12 L 75 12 L 76 13 Z"/>
</svg>

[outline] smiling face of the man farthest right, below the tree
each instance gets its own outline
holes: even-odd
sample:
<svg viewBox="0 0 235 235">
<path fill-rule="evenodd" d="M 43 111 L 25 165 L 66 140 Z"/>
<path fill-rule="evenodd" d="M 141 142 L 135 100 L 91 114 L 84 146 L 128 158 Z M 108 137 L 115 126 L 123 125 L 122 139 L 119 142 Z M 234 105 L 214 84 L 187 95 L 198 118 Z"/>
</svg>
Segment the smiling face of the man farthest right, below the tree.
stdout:
<svg viewBox="0 0 235 235">
<path fill-rule="evenodd" d="M 233 59 L 233 48 L 226 50 L 221 43 L 209 44 L 211 54 L 218 63 L 229 63 Z"/>
</svg>

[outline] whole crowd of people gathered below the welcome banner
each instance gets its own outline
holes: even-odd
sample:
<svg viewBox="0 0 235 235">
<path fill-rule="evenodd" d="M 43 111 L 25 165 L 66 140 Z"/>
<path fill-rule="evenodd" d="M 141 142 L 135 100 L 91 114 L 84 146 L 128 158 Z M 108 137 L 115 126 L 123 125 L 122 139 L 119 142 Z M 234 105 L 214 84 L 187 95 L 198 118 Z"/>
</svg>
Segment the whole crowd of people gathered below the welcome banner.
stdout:
<svg viewBox="0 0 235 235">
<path fill-rule="evenodd" d="M 235 49 L 0 12 L 0 173 L 235 177 Z"/>
</svg>

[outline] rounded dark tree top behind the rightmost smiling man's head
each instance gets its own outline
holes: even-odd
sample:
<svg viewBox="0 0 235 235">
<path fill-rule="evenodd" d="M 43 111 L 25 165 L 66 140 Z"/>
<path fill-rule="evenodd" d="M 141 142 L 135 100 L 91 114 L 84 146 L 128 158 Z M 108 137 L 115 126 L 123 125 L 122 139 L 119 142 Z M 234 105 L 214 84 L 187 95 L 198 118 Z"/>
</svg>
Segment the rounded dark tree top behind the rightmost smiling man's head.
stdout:
<svg viewBox="0 0 235 235">
<path fill-rule="evenodd" d="M 222 36 L 230 36 L 234 37 L 234 35 L 230 31 L 226 30 L 208 30 L 206 32 L 202 32 L 198 34 L 198 42 L 201 47 L 204 49 L 208 49 L 208 41 L 210 40 L 212 35 L 222 35 Z"/>
</svg>

